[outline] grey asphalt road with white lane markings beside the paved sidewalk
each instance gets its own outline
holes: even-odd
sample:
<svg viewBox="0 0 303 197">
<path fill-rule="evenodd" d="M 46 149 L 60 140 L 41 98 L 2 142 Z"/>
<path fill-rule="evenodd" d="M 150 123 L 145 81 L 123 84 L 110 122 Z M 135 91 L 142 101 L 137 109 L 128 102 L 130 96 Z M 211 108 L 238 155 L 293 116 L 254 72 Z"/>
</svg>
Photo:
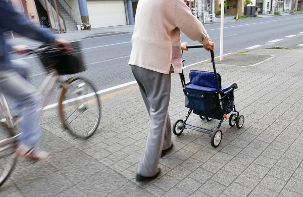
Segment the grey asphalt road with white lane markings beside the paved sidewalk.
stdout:
<svg viewBox="0 0 303 197">
<path fill-rule="evenodd" d="M 247 20 L 225 20 L 223 54 L 249 50 L 257 47 L 285 46 L 302 48 L 303 14 L 260 17 Z M 215 42 L 215 56 L 220 55 L 220 23 L 205 24 L 211 41 Z M 295 35 L 295 36 L 290 36 Z M 79 73 L 92 81 L 98 90 L 134 81 L 128 64 L 132 33 L 82 39 L 87 71 Z M 286 37 L 290 36 L 290 37 Z M 161 42 L 161 40 L 159 40 Z M 198 44 L 182 34 L 182 41 Z M 271 41 L 271 42 L 270 42 Z M 249 48 L 249 49 L 246 49 Z M 17 57 L 20 58 L 20 57 Z M 185 65 L 210 59 L 204 49 L 184 52 Z M 37 58 L 26 58 L 32 65 L 31 82 L 38 87 L 45 78 L 45 71 Z M 65 78 L 69 76 L 64 76 Z M 55 96 L 51 103 L 56 102 Z"/>
</svg>

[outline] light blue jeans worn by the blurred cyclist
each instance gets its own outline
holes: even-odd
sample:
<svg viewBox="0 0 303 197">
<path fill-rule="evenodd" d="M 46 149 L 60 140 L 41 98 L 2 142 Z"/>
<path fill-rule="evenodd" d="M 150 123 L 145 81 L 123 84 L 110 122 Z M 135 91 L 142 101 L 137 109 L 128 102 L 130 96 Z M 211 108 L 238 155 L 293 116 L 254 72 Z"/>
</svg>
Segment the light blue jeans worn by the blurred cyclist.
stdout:
<svg viewBox="0 0 303 197">
<path fill-rule="evenodd" d="M 40 140 L 39 102 L 40 95 L 26 80 L 28 65 L 24 61 L 11 61 L 13 70 L 0 70 L 0 92 L 16 100 L 20 116 L 19 131 L 22 132 L 18 143 L 37 148 Z"/>
</svg>

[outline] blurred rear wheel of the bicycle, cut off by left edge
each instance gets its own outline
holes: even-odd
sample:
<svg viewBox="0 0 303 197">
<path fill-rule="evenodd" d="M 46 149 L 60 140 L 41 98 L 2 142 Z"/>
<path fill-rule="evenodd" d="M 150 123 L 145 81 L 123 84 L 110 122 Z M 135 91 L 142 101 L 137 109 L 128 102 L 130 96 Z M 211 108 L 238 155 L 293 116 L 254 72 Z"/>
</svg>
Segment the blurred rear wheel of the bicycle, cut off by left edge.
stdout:
<svg viewBox="0 0 303 197">
<path fill-rule="evenodd" d="M 5 124 L 5 123 L 1 123 Z M 12 137 L 12 131 L 1 129 L 0 141 L 0 186 L 8 179 L 16 163 L 14 157 L 15 140 L 17 136 Z"/>
</svg>

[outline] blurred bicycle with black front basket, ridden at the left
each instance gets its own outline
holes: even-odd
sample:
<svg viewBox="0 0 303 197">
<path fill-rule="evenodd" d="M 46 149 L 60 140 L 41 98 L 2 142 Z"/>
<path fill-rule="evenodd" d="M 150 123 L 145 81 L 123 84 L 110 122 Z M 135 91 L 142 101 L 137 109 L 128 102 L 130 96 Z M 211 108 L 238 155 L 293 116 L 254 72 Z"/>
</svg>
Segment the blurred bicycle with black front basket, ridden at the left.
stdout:
<svg viewBox="0 0 303 197">
<path fill-rule="evenodd" d="M 41 45 L 33 50 L 28 50 L 28 55 L 36 54 L 42 65 L 49 73 L 38 89 L 42 93 L 46 88 L 46 95 L 39 110 L 42 115 L 43 108 L 55 88 L 59 90 L 58 113 L 63 128 L 75 137 L 87 139 L 96 131 L 101 118 L 101 103 L 98 99 L 95 87 L 83 77 L 71 77 L 65 81 L 61 75 L 76 74 L 84 71 L 82 54 L 79 41 L 71 42 L 73 51 L 63 53 L 62 49 L 53 46 Z M 12 131 L 14 128 L 13 117 L 10 113 L 5 96 L 0 92 L 0 111 L 3 111 L 5 119 L 1 124 L 7 128 L 1 131 L 6 139 L 0 141 L 0 186 L 7 180 L 16 162 L 14 156 L 15 142 L 18 135 Z M 82 129 L 82 130 L 81 130 Z M 6 167 L 3 167 L 5 166 Z"/>
</svg>

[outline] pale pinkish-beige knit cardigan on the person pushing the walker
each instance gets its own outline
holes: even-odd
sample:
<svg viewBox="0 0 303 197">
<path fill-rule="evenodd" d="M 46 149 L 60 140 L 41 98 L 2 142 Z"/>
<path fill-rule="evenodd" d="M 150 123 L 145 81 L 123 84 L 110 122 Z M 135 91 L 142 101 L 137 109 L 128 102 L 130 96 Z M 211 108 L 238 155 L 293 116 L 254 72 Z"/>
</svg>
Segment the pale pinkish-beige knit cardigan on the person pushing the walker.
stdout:
<svg viewBox="0 0 303 197">
<path fill-rule="evenodd" d="M 135 15 L 129 65 L 169 74 L 182 72 L 181 31 L 206 44 L 209 36 L 182 0 L 140 0 Z"/>
</svg>

